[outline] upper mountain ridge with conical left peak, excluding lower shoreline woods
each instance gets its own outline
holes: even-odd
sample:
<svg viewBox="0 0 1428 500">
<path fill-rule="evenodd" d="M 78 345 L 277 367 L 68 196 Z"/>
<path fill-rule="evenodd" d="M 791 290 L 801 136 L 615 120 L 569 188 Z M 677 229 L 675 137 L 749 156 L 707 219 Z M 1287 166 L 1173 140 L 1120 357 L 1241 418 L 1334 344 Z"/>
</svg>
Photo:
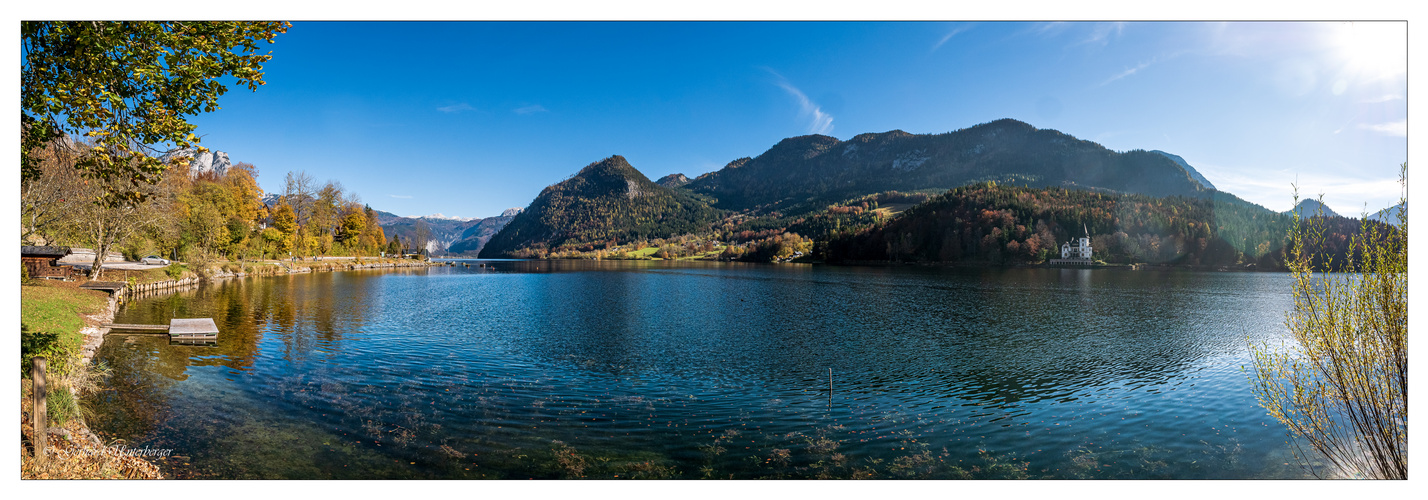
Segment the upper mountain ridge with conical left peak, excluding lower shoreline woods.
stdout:
<svg viewBox="0 0 1428 500">
<path fill-rule="evenodd" d="M 670 174 L 651 183 L 620 156 L 593 163 L 545 187 L 480 256 L 588 251 L 707 233 L 731 214 L 793 217 L 874 193 L 941 193 L 982 181 L 1154 197 L 1214 193 L 1178 156 L 1117 153 L 1010 119 L 944 134 L 892 130 L 847 141 L 813 134 L 784 139 L 693 180 Z"/>
</svg>

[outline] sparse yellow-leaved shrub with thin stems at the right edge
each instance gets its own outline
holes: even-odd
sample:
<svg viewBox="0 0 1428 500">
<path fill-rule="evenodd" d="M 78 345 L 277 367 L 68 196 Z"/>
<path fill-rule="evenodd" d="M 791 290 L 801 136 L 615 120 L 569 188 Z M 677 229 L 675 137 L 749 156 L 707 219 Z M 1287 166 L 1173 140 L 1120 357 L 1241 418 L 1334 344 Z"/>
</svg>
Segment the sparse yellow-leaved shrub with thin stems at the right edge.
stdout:
<svg viewBox="0 0 1428 500">
<path fill-rule="evenodd" d="M 1408 164 L 1401 169 L 1407 203 Z M 1339 264 L 1314 250 L 1324 249 L 1324 217 L 1301 223 L 1295 216 L 1287 256 L 1291 341 L 1287 351 L 1254 346 L 1251 383 L 1295 444 L 1308 443 L 1338 473 L 1407 479 L 1408 214 L 1399 214 L 1397 227 L 1381 230 L 1368 217 L 1361 224 Z"/>
</svg>

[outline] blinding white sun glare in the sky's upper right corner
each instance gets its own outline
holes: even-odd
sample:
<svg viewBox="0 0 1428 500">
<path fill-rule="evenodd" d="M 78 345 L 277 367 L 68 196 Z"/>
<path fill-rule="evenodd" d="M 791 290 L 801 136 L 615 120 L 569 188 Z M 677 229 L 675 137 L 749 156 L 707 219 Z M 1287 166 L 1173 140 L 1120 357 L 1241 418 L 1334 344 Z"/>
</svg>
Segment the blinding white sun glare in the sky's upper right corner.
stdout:
<svg viewBox="0 0 1428 500">
<path fill-rule="evenodd" d="M 1332 37 L 1351 77 L 1371 81 L 1408 73 L 1405 23 L 1344 23 Z"/>
</svg>

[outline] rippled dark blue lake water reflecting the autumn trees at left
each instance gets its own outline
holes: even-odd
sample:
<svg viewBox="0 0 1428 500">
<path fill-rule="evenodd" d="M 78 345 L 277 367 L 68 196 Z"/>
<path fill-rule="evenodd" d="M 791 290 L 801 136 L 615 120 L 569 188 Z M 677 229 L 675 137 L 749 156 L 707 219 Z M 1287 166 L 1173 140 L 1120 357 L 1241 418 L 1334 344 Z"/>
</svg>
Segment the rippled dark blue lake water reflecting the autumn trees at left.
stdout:
<svg viewBox="0 0 1428 500">
<path fill-rule="evenodd" d="M 177 477 L 1302 476 L 1241 371 L 1287 274 L 468 263 L 137 300 L 223 333 L 111 334 L 93 427 Z"/>
</svg>

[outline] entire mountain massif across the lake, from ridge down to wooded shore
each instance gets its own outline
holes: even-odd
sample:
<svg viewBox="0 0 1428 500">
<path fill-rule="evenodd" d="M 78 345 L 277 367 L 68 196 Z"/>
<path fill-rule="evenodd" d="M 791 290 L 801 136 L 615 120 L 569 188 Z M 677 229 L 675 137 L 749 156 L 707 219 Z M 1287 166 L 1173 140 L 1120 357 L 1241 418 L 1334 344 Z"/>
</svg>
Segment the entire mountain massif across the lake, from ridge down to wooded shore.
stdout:
<svg viewBox="0 0 1428 500">
<path fill-rule="evenodd" d="M 1327 214 L 1325 244 L 1339 251 L 1357 229 Z M 480 256 L 648 259 L 640 249 L 658 247 L 700 259 L 1008 264 L 1060 257 L 1061 243 L 1088 231 L 1108 263 L 1279 269 L 1291 224 L 1217 191 L 1175 154 L 1117 153 L 998 120 L 935 136 L 790 137 L 694 180 L 651 183 L 613 156 L 543 190 Z"/>
</svg>

